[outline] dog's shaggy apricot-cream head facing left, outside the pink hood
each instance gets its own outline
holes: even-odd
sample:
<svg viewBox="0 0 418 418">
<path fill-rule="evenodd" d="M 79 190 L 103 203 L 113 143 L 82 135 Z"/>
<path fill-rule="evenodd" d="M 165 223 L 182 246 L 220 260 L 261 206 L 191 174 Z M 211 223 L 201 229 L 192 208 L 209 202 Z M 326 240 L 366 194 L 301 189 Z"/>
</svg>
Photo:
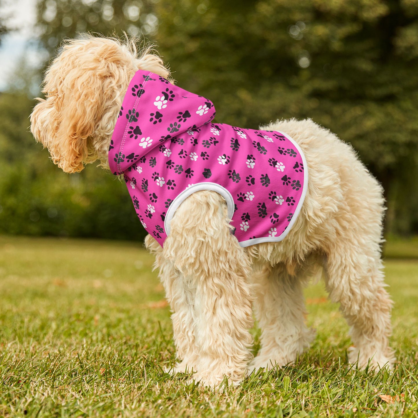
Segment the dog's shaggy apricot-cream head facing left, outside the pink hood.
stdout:
<svg viewBox="0 0 418 418">
<path fill-rule="evenodd" d="M 86 36 L 66 41 L 45 74 L 45 99 L 31 114 L 31 132 L 63 171 L 81 171 L 107 151 L 117 113 L 138 69 L 168 78 L 161 59 L 135 42 Z"/>
</svg>

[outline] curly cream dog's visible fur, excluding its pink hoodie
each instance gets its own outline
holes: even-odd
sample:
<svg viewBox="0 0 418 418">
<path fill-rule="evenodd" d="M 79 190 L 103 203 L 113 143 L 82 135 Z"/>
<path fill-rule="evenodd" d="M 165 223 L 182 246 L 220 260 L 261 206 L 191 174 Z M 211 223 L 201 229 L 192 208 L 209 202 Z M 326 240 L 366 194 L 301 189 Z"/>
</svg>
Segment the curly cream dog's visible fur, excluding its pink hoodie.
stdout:
<svg viewBox="0 0 418 418">
<path fill-rule="evenodd" d="M 34 137 L 62 170 L 74 173 L 94 161 L 109 168 L 112 133 L 138 69 L 169 77 L 161 59 L 149 49 L 137 54 L 133 41 L 87 36 L 64 44 L 46 71 L 46 99 L 31 115 Z M 311 120 L 278 120 L 262 129 L 293 138 L 309 171 L 285 239 L 241 247 L 224 197 L 211 190 L 181 203 L 163 247 L 146 237 L 173 312 L 179 363 L 172 370 L 193 370 L 196 382 L 215 387 L 225 376 L 238 384 L 249 370 L 292 363 L 314 338 L 304 323 L 303 286 L 318 266 L 351 327 L 349 361 L 392 367 L 381 186 L 349 145 Z M 255 358 L 252 305 L 262 329 Z"/>
</svg>

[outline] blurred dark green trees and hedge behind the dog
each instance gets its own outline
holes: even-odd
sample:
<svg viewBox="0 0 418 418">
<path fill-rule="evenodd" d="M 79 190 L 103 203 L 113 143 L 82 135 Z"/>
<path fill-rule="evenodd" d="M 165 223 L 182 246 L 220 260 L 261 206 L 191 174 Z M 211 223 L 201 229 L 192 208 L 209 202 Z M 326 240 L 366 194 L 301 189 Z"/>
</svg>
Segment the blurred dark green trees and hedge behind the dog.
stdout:
<svg viewBox="0 0 418 418">
<path fill-rule="evenodd" d="M 48 60 L 86 31 L 155 43 L 219 122 L 310 117 L 329 128 L 382 183 L 386 233 L 418 233 L 418 1 L 41 0 L 36 9 L 0 93 L 0 233 L 145 236 L 124 184 L 94 164 L 62 173 L 28 129 Z M 0 14 L 0 52 L 22 30 L 11 13 Z"/>
</svg>

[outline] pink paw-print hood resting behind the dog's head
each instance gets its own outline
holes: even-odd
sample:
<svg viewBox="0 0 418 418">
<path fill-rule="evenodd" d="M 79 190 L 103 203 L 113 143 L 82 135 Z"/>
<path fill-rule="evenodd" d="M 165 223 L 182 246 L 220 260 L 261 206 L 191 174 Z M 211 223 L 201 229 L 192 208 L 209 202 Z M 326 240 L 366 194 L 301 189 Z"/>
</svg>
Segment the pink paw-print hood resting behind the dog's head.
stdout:
<svg viewBox="0 0 418 418">
<path fill-rule="evenodd" d="M 150 71 L 137 71 L 129 83 L 110 141 L 110 170 L 115 175 L 122 174 L 156 147 L 205 125 L 214 116 L 210 100 Z"/>
</svg>

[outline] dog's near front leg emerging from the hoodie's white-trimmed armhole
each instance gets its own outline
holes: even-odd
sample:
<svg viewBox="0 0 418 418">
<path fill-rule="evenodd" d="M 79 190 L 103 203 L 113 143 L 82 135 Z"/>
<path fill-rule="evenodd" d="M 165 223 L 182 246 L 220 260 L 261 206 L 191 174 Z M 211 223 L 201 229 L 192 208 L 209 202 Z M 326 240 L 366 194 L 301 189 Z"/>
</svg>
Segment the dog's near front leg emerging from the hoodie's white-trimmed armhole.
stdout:
<svg viewBox="0 0 418 418">
<path fill-rule="evenodd" d="M 171 221 L 163 253 L 178 272 L 172 281 L 185 311 L 173 322 L 192 345 L 194 380 L 216 387 L 226 376 L 238 384 L 252 357 L 250 260 L 230 232 L 222 197 L 213 191 L 189 196 Z"/>
</svg>

